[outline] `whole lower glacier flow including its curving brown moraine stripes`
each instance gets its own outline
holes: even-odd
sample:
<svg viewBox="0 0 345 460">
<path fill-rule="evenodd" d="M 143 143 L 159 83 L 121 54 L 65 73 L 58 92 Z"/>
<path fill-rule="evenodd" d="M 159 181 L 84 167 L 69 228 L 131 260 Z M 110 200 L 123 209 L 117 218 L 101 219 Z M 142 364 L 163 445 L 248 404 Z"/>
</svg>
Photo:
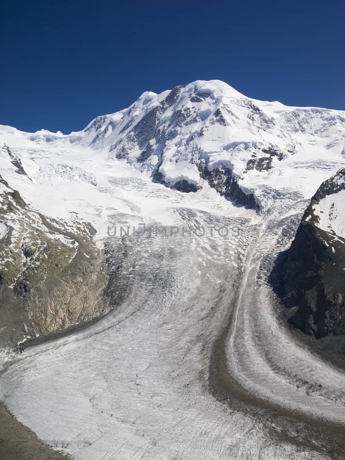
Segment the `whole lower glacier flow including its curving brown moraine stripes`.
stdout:
<svg viewBox="0 0 345 460">
<path fill-rule="evenodd" d="M 280 327 L 267 282 L 305 203 L 263 217 L 194 197 L 161 210 L 164 224 L 228 237 L 109 238 L 118 307 L 6 362 L 6 406 L 78 460 L 345 458 L 345 374 Z"/>
</svg>

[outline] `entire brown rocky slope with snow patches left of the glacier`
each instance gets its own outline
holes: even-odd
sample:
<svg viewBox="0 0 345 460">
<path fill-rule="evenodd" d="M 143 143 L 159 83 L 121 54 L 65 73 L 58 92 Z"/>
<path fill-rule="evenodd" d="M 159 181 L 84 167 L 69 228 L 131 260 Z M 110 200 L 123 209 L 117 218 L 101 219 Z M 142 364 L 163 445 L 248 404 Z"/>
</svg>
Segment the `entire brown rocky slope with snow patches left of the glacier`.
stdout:
<svg viewBox="0 0 345 460">
<path fill-rule="evenodd" d="M 0 176 L 0 348 L 106 314 L 104 255 L 82 222 L 72 233 L 31 209 Z"/>
</svg>

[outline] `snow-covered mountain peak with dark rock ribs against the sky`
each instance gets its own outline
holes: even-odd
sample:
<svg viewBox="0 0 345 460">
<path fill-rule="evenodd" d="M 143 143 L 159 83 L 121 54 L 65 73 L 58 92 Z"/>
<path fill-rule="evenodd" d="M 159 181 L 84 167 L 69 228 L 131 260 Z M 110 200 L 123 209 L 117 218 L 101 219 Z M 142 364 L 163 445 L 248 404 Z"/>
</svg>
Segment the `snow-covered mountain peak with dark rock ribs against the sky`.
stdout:
<svg viewBox="0 0 345 460">
<path fill-rule="evenodd" d="M 345 165 L 345 112 L 259 101 L 222 81 L 199 80 L 144 92 L 127 109 L 100 115 L 79 132 L 0 127 L 0 141 L 19 156 L 60 152 L 63 165 L 73 152 L 109 167 L 121 162 L 181 191 L 199 190 L 207 181 L 226 197 L 252 195 L 251 203 L 265 207 L 289 190 L 310 197 L 315 184 Z M 63 152 L 68 160 L 61 161 Z"/>
</svg>

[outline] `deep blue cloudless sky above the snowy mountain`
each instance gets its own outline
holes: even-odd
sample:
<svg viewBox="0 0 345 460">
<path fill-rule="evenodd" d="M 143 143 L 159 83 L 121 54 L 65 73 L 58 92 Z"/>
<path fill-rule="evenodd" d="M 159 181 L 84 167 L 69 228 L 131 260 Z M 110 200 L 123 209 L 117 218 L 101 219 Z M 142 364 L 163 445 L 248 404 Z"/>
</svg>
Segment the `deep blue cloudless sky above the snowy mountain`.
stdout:
<svg viewBox="0 0 345 460">
<path fill-rule="evenodd" d="M 3 1 L 0 124 L 84 128 L 144 91 L 223 80 L 287 105 L 345 110 L 339 1 Z"/>
</svg>

